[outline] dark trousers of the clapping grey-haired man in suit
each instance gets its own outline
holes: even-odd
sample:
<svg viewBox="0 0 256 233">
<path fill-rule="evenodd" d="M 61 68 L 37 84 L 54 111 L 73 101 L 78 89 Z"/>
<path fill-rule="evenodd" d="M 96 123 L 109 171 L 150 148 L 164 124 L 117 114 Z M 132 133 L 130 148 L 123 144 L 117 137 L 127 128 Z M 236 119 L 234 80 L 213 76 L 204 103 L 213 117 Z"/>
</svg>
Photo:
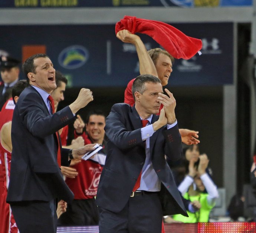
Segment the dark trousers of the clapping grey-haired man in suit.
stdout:
<svg viewBox="0 0 256 233">
<path fill-rule="evenodd" d="M 162 213 L 158 193 L 130 197 L 118 213 L 99 207 L 99 233 L 161 233 Z"/>
</svg>

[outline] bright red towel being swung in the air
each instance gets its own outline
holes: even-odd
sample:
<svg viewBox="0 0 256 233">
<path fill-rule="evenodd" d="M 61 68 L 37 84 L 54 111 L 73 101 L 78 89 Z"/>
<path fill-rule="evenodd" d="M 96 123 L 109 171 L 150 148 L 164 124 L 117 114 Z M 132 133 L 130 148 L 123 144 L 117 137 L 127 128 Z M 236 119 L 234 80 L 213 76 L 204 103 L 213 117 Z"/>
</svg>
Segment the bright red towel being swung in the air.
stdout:
<svg viewBox="0 0 256 233">
<path fill-rule="evenodd" d="M 160 21 L 125 16 L 116 23 L 115 33 L 124 29 L 132 34 L 147 34 L 177 59 L 190 59 L 202 48 L 201 40 L 186 36 L 177 28 Z"/>
</svg>

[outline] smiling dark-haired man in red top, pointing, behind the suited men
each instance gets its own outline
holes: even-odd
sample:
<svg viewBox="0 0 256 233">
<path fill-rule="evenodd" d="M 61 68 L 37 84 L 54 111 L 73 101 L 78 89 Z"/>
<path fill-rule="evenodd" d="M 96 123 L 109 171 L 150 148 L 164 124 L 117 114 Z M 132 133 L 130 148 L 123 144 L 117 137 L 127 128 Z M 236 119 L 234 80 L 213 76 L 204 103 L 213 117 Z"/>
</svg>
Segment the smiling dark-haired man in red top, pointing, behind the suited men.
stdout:
<svg viewBox="0 0 256 233">
<path fill-rule="evenodd" d="M 83 132 L 86 128 L 87 134 Z M 103 149 L 97 155 L 86 161 L 72 166 L 78 172 L 75 178 L 66 178 L 66 184 L 74 193 L 73 202 L 68 205 L 67 211 L 59 218 L 60 225 L 85 226 L 98 225 L 99 213 L 95 204 L 95 196 L 98 189 L 99 178 L 105 164 L 105 116 L 103 112 L 95 110 L 89 112 L 84 124 L 82 118 L 74 122 L 75 137 L 82 136 L 85 145 L 98 143 L 103 145 Z"/>
</svg>

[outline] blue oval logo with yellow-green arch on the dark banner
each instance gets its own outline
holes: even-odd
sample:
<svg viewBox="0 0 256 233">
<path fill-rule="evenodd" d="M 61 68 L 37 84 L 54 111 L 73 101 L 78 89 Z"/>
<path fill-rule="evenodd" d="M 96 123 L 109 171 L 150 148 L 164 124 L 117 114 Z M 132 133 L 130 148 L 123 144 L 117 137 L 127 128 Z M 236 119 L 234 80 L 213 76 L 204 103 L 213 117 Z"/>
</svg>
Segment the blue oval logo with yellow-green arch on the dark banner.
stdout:
<svg viewBox="0 0 256 233">
<path fill-rule="evenodd" d="M 76 69 L 86 63 L 89 58 L 88 50 L 81 45 L 72 45 L 61 51 L 59 64 L 66 69 Z"/>
</svg>

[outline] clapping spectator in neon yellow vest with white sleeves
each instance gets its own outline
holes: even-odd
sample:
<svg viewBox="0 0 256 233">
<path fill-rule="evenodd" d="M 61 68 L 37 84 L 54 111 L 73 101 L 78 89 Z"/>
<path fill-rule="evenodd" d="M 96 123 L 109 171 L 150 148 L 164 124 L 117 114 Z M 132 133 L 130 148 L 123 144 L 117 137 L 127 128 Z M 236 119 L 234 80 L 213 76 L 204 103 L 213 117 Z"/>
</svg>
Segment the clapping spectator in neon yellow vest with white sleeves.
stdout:
<svg viewBox="0 0 256 233">
<path fill-rule="evenodd" d="M 198 166 L 196 162 L 198 161 Z M 208 222 L 211 209 L 215 205 L 219 193 L 216 185 L 206 172 L 209 159 L 206 154 L 192 156 L 188 165 L 188 174 L 184 180 L 178 186 L 178 190 L 181 192 L 184 198 L 193 202 L 198 200 L 201 204 L 201 208 L 192 213 L 187 211 L 188 217 L 182 215 L 174 215 L 173 219 L 183 223 L 196 223 L 196 222 Z M 204 192 L 206 189 L 207 193 Z"/>
</svg>

